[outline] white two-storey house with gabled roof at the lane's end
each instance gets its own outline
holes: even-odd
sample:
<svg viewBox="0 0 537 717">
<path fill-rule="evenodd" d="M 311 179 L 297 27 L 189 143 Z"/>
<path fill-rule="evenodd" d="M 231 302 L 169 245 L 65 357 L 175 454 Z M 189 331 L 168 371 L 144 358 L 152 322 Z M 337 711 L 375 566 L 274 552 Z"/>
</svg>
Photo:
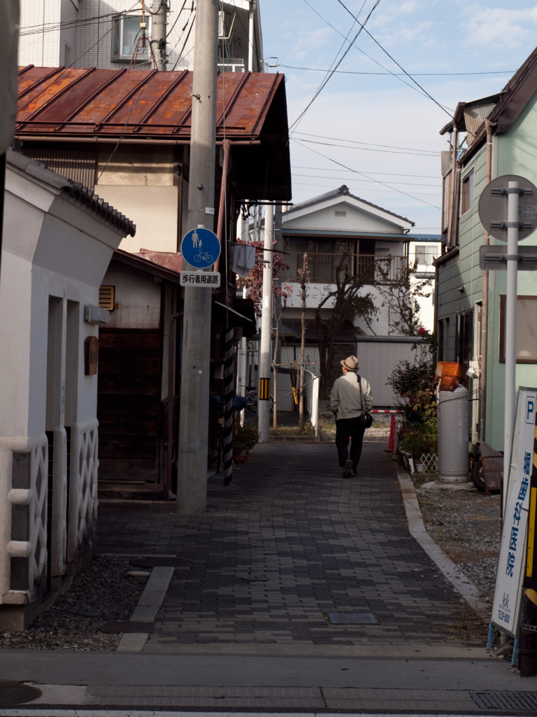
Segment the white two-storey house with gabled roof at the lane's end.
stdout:
<svg viewBox="0 0 537 717">
<path fill-rule="evenodd" d="M 297 272 L 306 254 L 309 272 L 306 362 L 314 373 L 322 374 L 316 310 L 336 288 L 335 272 L 344 257 L 352 282 L 359 285 L 358 294 L 369 295 L 377 313 L 369 318 L 358 314 L 338 328 L 332 361 L 327 359 L 330 365 L 326 371 L 330 371 L 332 379 L 325 374 L 326 387 L 339 375 L 339 360 L 355 354 L 360 360 L 360 370 L 372 383 L 375 405 L 386 407 L 394 403 L 392 391 L 386 385 L 387 376 L 398 361 L 412 358 L 412 344 L 416 340 L 409 336 L 408 320 L 402 317 L 400 303 L 408 302 L 412 282 L 434 277 L 434 270 L 430 271 L 433 267 L 422 260 L 429 262 L 435 256 L 435 249 L 430 256 L 429 247 L 440 246 L 439 242 L 432 242 L 438 237 L 410 234 L 413 226 L 410 219 L 352 195 L 347 186 L 296 204 L 282 214 L 282 248 L 289 265 L 281 275 L 282 288 L 288 294 L 281 318 L 282 369 L 299 360 L 302 299 Z M 412 277 L 409 293 L 405 277 L 416 258 L 417 275 Z M 420 324 L 432 329 L 434 287 L 431 285 L 425 293 L 428 296 L 418 300 Z M 333 299 L 322 304 L 320 316 L 326 325 L 334 322 Z M 289 391 L 285 382 L 282 390 Z"/>
</svg>

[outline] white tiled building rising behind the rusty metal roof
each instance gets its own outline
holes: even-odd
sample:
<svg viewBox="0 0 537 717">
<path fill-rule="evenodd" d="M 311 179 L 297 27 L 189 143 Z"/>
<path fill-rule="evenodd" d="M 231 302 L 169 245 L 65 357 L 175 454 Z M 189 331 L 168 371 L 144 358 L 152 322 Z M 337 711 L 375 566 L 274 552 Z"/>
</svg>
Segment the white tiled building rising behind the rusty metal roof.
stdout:
<svg viewBox="0 0 537 717">
<path fill-rule="evenodd" d="M 37 67 L 98 67 L 107 70 L 152 70 L 165 62 L 166 70 L 192 70 L 195 4 L 177 4 L 161 29 L 165 0 L 145 3 L 127 0 L 21 0 L 19 65 Z M 263 72 L 263 44 L 259 4 L 231 0 L 221 4 L 219 62 L 222 70 Z M 140 27 L 144 24 L 145 29 Z M 166 36 L 161 56 L 160 35 Z M 142 42 L 145 35 L 146 41 Z"/>
</svg>

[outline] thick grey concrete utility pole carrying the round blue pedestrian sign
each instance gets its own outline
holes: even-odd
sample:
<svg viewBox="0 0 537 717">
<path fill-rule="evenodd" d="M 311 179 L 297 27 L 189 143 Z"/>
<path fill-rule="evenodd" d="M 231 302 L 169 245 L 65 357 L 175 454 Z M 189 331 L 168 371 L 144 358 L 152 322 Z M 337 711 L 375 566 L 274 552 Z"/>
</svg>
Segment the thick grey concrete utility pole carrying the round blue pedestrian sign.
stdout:
<svg viewBox="0 0 537 717">
<path fill-rule="evenodd" d="M 188 227 L 214 231 L 218 0 L 198 0 L 195 18 Z M 186 262 L 183 263 L 186 264 Z M 189 265 L 183 269 L 190 269 Z M 207 506 L 211 290 L 185 287 L 177 512 Z"/>
</svg>

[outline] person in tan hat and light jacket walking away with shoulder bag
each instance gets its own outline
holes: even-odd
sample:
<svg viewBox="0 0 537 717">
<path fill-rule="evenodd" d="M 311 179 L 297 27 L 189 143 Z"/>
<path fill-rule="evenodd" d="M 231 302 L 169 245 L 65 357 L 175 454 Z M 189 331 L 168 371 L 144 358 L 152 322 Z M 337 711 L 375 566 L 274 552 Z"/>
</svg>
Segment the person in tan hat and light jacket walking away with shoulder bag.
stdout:
<svg viewBox="0 0 537 717">
<path fill-rule="evenodd" d="M 330 407 L 336 418 L 336 447 L 343 478 L 357 475 L 358 461 L 362 455 L 365 427 L 360 419 L 362 411 L 371 411 L 373 399 L 371 386 L 357 375 L 358 359 L 348 356 L 339 361 L 343 376 L 336 379 L 330 396 Z M 362 390 L 360 391 L 360 384 Z M 349 440 L 351 450 L 349 454 Z"/>
</svg>

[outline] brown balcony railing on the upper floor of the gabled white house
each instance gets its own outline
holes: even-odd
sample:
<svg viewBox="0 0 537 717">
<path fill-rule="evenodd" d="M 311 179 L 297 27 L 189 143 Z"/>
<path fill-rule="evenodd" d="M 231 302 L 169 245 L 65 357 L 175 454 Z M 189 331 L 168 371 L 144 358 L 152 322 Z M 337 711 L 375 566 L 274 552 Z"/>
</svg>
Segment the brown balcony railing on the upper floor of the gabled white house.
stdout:
<svg viewBox="0 0 537 717">
<path fill-rule="evenodd" d="M 298 281 L 297 272 L 302 267 L 303 257 L 304 253 L 286 254 L 289 269 L 282 272 L 282 280 Z M 341 262 L 341 254 L 309 253 L 309 281 L 314 284 L 334 284 L 337 267 Z M 343 277 L 347 271 L 356 281 L 365 284 L 390 284 L 405 280 L 407 268 L 407 257 L 359 254 L 347 257 L 340 272 Z"/>
</svg>

